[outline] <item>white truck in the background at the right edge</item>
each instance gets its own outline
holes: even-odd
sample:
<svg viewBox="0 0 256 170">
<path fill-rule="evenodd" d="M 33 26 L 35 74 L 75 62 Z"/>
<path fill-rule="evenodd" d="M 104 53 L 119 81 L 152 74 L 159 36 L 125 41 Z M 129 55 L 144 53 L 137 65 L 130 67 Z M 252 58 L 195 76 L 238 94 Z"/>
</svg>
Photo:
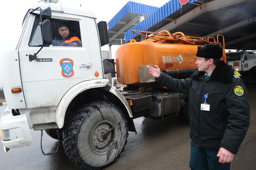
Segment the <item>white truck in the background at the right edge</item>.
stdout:
<svg viewBox="0 0 256 170">
<path fill-rule="evenodd" d="M 240 72 L 245 82 L 252 84 L 256 78 L 256 52 L 227 52 L 227 63 Z"/>
</svg>

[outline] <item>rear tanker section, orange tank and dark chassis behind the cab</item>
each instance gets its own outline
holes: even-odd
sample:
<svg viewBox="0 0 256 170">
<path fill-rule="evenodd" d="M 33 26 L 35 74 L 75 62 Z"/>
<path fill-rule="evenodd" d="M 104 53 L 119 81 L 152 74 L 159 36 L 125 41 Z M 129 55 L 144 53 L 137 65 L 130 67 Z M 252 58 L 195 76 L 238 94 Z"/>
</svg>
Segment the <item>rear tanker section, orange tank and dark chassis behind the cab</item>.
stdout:
<svg viewBox="0 0 256 170">
<path fill-rule="evenodd" d="M 189 78 L 198 70 L 195 64 L 197 46 L 207 43 L 224 46 L 223 35 L 206 39 L 181 32 L 170 34 L 165 30 L 159 33 L 132 31 L 146 39 L 140 42 L 131 39 L 130 43 L 120 46 L 115 53 L 115 64 L 118 82 L 127 85 L 122 93 L 133 117 L 162 119 L 183 113 L 189 119 L 188 95 L 158 85 L 146 67 L 158 65 L 162 72 L 174 78 Z M 222 60 L 226 61 L 224 48 Z"/>
</svg>

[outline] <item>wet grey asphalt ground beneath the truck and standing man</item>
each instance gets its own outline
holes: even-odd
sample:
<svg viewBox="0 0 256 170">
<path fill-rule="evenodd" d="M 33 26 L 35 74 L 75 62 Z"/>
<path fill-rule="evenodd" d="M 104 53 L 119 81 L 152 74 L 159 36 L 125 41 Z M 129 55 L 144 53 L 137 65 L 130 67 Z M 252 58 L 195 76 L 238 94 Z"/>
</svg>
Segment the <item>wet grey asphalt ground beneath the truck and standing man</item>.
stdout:
<svg viewBox="0 0 256 170">
<path fill-rule="evenodd" d="M 231 170 L 256 170 L 256 84 L 248 85 L 250 127 Z M 0 106 L 0 112 L 5 105 Z M 137 135 L 129 132 L 121 157 L 104 170 L 189 170 L 189 124 L 181 118 L 134 120 Z M 40 150 L 40 131 L 31 130 L 31 146 L 11 149 L 7 153 L 0 142 L 0 170 L 78 170 L 65 156 L 62 144 L 54 155 L 44 156 Z M 57 147 L 57 140 L 44 132 L 45 152 Z"/>
</svg>

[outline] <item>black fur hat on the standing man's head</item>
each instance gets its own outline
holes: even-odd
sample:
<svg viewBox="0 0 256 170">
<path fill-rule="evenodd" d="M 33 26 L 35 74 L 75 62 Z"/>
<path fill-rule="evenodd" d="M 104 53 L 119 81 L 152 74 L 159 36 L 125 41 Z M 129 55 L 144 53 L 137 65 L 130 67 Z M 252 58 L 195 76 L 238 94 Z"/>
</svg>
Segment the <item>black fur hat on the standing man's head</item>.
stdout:
<svg viewBox="0 0 256 170">
<path fill-rule="evenodd" d="M 223 47 L 217 44 L 206 44 L 204 46 L 197 46 L 196 57 L 203 57 L 206 59 L 220 59 L 222 58 Z"/>
</svg>

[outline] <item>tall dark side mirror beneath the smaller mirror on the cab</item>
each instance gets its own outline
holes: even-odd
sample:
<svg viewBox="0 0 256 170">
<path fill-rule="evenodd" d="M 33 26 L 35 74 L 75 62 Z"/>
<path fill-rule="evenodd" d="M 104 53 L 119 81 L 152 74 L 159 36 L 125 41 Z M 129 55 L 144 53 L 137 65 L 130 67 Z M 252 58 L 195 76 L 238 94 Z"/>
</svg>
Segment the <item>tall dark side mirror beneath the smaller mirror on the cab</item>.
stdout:
<svg viewBox="0 0 256 170">
<path fill-rule="evenodd" d="M 41 23 L 41 33 L 44 46 L 50 46 L 53 43 L 53 39 L 51 23 L 49 19 L 46 19 Z"/>
</svg>

